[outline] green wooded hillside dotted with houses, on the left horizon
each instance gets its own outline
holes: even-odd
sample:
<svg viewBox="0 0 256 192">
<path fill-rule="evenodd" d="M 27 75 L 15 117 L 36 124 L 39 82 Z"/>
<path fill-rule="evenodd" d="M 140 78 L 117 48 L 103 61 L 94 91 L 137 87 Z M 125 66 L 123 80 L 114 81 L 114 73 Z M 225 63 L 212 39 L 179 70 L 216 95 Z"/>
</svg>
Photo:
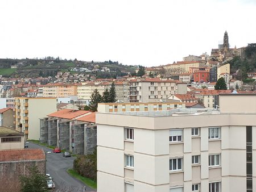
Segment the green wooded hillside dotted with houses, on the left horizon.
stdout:
<svg viewBox="0 0 256 192">
<path fill-rule="evenodd" d="M 135 66 L 122 65 L 111 60 L 104 62 L 88 62 L 78 60 L 61 60 L 59 57 L 46 57 L 45 59 L 0 59 L 0 75 L 3 77 L 46 77 L 55 76 L 57 72 L 67 72 L 74 68 L 93 69 L 98 65 L 98 69 L 106 67 L 110 69 L 106 72 L 90 72 L 97 78 L 115 78 L 116 76 L 125 76 L 127 73 L 133 73 Z M 11 67 L 13 69 L 11 69 Z M 86 73 L 73 72 L 72 73 Z"/>
</svg>

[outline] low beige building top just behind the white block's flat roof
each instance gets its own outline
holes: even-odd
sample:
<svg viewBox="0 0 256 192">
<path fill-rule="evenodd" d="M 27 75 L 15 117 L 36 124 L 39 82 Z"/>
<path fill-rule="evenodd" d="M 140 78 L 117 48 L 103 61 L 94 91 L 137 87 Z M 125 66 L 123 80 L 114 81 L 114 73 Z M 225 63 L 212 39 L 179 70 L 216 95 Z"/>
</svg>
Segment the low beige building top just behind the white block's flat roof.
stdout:
<svg viewBox="0 0 256 192">
<path fill-rule="evenodd" d="M 98 112 L 162 111 L 172 108 L 185 108 L 185 103 L 98 103 Z"/>
</svg>

